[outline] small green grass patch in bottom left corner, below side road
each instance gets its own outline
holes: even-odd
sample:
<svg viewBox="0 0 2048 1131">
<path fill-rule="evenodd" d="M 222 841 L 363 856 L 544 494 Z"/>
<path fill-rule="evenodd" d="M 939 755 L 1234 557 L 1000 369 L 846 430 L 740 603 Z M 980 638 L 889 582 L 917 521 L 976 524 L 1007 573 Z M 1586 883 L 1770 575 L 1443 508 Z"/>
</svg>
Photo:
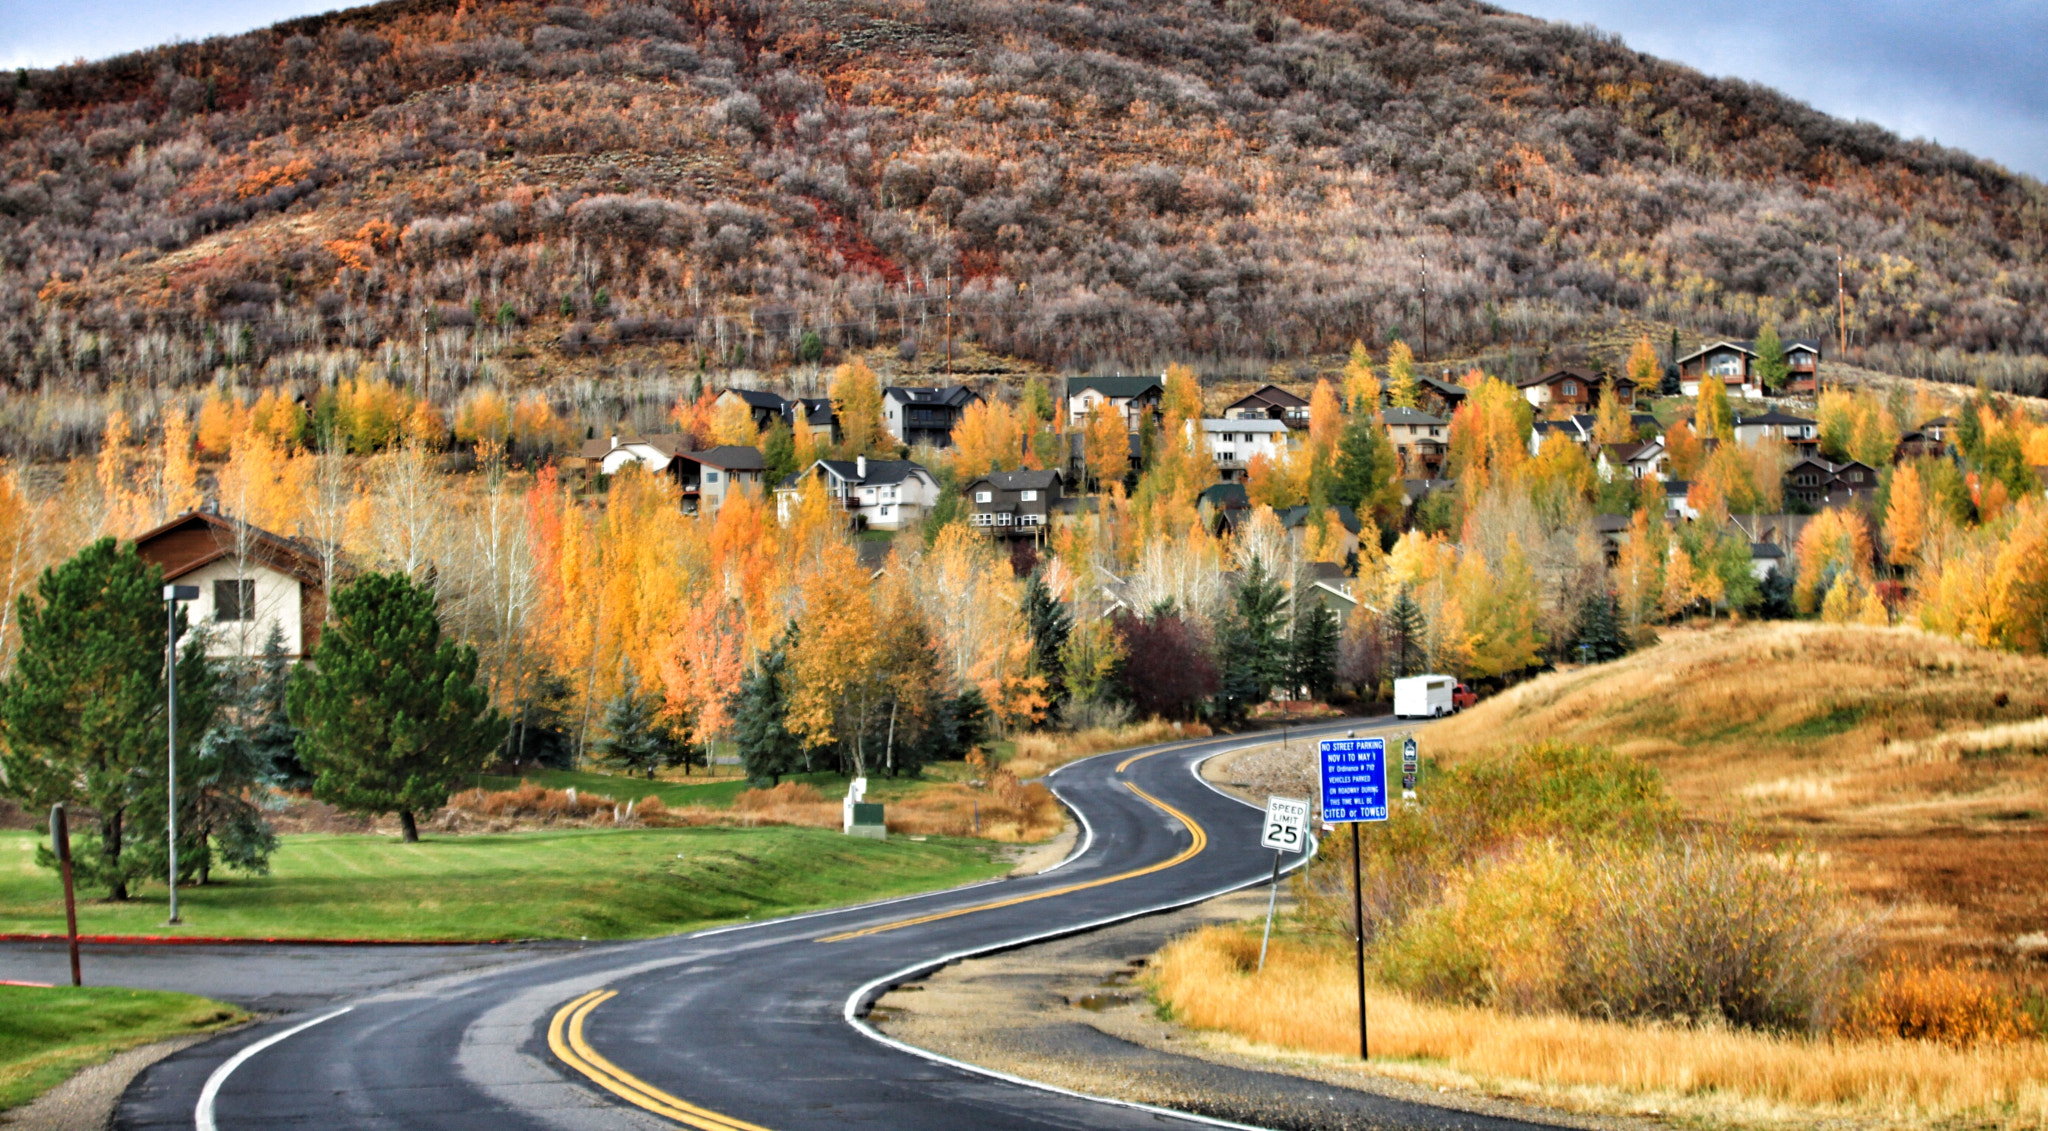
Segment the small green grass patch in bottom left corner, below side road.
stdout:
<svg viewBox="0 0 2048 1131">
<path fill-rule="evenodd" d="M 0 986 L 0 1111 L 106 1057 L 242 1020 L 242 1010 L 156 990 Z"/>
</svg>

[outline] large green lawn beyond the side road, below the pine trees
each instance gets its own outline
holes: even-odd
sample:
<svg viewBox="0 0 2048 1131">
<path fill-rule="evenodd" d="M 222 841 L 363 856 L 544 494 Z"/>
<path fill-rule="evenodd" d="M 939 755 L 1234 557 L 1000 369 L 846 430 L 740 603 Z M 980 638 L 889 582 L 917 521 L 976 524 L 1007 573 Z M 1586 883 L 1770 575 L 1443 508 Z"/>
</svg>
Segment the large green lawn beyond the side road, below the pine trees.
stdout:
<svg viewBox="0 0 2048 1131">
<path fill-rule="evenodd" d="M 1001 875 L 975 840 L 885 842 L 815 828 L 561 830 L 494 836 L 287 836 L 268 877 L 82 899 L 84 934 L 236 938 L 635 938 Z M 63 930 L 37 836 L 0 832 L 0 932 Z"/>
</svg>

